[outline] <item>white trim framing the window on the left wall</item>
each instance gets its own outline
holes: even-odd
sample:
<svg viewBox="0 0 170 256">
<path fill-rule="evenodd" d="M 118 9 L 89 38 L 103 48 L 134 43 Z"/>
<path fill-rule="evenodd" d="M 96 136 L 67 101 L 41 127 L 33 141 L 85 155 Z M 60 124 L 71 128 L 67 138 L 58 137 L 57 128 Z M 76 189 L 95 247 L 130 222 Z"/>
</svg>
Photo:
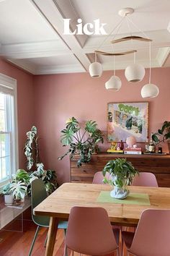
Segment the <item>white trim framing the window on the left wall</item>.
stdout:
<svg viewBox="0 0 170 256">
<path fill-rule="evenodd" d="M 14 97 L 14 157 L 12 174 L 19 168 L 19 151 L 18 151 L 18 119 L 17 119 L 17 80 L 12 77 L 0 73 L 0 93 L 10 94 Z M 9 180 L 0 182 L 0 192 L 2 187 L 7 184 Z"/>
</svg>

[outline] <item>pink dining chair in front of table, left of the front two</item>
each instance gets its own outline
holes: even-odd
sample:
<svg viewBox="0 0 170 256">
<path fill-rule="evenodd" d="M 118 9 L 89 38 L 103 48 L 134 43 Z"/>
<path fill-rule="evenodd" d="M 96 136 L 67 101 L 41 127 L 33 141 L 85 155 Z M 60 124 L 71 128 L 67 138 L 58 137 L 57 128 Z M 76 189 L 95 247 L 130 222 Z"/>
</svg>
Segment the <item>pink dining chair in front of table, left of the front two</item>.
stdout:
<svg viewBox="0 0 170 256">
<path fill-rule="evenodd" d="M 65 238 L 65 255 L 68 248 L 85 255 L 119 255 L 120 231 L 112 226 L 104 208 L 71 208 Z"/>
</svg>

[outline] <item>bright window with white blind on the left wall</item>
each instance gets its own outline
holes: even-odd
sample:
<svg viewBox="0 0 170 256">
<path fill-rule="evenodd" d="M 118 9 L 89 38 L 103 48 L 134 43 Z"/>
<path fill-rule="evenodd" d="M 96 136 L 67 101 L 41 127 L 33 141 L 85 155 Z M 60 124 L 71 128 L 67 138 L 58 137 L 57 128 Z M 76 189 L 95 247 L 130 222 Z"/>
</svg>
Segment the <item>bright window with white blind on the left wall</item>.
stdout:
<svg viewBox="0 0 170 256">
<path fill-rule="evenodd" d="M 18 168 L 17 83 L 0 74 L 0 187 Z"/>
</svg>

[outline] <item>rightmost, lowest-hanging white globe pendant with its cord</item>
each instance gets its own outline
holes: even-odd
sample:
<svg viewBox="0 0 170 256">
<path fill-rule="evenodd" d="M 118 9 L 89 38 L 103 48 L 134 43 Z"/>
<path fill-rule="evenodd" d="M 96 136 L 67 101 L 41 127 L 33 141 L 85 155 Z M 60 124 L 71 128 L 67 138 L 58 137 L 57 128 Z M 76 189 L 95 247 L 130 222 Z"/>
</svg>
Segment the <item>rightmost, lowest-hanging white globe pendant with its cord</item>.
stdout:
<svg viewBox="0 0 170 256">
<path fill-rule="evenodd" d="M 141 90 L 142 98 L 156 98 L 158 96 L 158 86 L 151 83 L 151 42 L 149 43 L 149 82 Z"/>
</svg>

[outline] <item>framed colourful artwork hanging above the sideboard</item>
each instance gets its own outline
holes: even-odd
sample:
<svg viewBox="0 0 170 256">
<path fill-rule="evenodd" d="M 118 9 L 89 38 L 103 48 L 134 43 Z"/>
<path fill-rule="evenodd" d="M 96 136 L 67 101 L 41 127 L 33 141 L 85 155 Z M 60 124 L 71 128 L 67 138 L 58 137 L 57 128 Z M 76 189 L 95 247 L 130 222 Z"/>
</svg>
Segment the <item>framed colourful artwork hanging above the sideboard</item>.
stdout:
<svg viewBox="0 0 170 256">
<path fill-rule="evenodd" d="M 107 103 L 107 141 L 125 142 L 129 136 L 146 142 L 148 102 Z"/>
</svg>

